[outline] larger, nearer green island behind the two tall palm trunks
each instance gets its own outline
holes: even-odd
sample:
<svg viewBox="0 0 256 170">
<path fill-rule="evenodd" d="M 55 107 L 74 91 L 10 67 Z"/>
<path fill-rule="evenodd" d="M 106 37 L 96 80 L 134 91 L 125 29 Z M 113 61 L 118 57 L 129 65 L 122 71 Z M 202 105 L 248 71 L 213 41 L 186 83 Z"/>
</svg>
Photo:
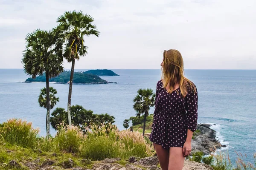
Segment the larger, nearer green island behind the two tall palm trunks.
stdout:
<svg viewBox="0 0 256 170">
<path fill-rule="evenodd" d="M 28 78 L 25 82 L 45 82 L 45 74 L 35 79 Z M 57 77 L 49 79 L 49 82 L 68 84 L 70 81 L 70 71 L 64 71 Z M 73 84 L 108 84 L 116 82 L 108 82 L 97 75 L 86 74 L 84 72 L 74 72 Z"/>
</svg>

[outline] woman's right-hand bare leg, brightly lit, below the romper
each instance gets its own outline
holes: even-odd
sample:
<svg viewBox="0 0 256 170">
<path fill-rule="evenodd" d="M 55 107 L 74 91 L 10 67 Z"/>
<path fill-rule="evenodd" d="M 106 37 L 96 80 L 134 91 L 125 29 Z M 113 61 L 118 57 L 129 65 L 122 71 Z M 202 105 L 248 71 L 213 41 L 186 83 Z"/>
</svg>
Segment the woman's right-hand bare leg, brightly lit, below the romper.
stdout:
<svg viewBox="0 0 256 170">
<path fill-rule="evenodd" d="M 169 151 L 168 170 L 182 170 L 185 160 L 185 157 L 182 153 L 182 147 L 170 147 Z"/>
</svg>

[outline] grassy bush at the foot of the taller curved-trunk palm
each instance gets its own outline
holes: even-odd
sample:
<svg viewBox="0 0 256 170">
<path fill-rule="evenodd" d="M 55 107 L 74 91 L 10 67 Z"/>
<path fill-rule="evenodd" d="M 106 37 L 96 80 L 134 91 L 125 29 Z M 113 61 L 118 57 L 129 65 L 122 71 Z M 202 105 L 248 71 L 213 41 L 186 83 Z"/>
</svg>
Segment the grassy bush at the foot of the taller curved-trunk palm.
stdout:
<svg viewBox="0 0 256 170">
<path fill-rule="evenodd" d="M 85 136 L 79 127 L 60 125 L 53 143 L 61 152 L 79 153 Z"/>
</svg>

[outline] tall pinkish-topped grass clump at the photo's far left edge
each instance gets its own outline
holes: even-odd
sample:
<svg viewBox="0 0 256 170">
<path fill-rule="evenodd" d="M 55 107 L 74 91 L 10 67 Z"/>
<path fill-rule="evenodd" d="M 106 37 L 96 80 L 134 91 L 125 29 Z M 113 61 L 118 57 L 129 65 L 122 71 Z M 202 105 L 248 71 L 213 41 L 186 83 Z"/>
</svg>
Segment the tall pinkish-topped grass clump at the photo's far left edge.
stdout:
<svg viewBox="0 0 256 170">
<path fill-rule="evenodd" d="M 0 136 L 10 144 L 33 148 L 36 146 L 39 129 L 32 128 L 32 123 L 21 119 L 9 119 L 0 127 Z"/>
</svg>

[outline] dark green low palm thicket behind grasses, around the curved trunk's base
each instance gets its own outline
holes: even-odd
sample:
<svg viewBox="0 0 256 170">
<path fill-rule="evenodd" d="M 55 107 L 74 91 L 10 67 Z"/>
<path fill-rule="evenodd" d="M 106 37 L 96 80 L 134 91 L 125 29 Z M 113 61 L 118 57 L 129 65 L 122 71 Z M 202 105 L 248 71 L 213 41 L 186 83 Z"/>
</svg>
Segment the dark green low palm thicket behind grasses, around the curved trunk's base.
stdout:
<svg viewBox="0 0 256 170">
<path fill-rule="evenodd" d="M 70 114 L 72 119 L 72 125 L 78 126 L 83 130 L 92 124 L 107 125 L 109 123 L 113 124 L 115 122 L 114 116 L 110 116 L 108 113 L 93 114 L 93 111 L 86 110 L 80 105 L 71 106 Z M 67 111 L 65 111 L 64 108 L 56 108 L 55 111 L 52 112 L 50 122 L 55 130 L 58 129 L 58 125 L 67 124 Z"/>
</svg>

